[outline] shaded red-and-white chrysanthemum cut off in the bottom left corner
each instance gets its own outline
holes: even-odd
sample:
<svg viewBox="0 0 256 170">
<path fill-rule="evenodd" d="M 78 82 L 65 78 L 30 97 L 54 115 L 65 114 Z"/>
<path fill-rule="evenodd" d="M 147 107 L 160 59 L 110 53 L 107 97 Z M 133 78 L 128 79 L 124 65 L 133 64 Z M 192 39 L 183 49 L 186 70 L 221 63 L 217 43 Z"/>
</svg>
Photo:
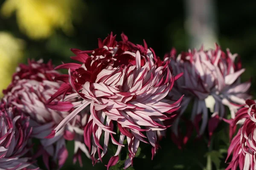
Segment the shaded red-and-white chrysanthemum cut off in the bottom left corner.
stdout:
<svg viewBox="0 0 256 170">
<path fill-rule="evenodd" d="M 18 113 L 17 108 L 0 104 L 0 169 L 35 169 L 28 154 L 32 129 L 29 118 Z"/>
</svg>

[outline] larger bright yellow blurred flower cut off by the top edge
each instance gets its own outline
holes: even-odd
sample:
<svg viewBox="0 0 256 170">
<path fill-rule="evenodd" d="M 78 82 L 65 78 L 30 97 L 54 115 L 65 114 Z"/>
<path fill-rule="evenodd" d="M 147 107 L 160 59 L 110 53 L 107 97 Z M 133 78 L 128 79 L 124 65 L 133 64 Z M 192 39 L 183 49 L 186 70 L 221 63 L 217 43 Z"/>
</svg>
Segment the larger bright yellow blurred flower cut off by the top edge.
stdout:
<svg viewBox="0 0 256 170">
<path fill-rule="evenodd" d="M 20 30 L 32 39 L 42 39 L 56 28 L 72 34 L 72 20 L 79 17 L 83 7 L 82 0 L 6 0 L 1 14 L 10 17 L 16 11 Z"/>
</svg>

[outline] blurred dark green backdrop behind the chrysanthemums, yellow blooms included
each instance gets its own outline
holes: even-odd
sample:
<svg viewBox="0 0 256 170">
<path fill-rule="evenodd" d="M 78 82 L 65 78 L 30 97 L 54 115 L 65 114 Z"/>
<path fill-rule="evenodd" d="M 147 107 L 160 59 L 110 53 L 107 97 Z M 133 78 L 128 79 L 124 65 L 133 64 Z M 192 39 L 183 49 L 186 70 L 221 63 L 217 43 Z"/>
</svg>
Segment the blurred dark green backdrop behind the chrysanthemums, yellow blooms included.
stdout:
<svg viewBox="0 0 256 170">
<path fill-rule="evenodd" d="M 97 48 L 97 39 L 104 39 L 111 31 L 118 34 L 118 40 L 122 31 L 134 43 L 142 44 L 145 39 L 160 57 L 172 47 L 179 53 L 198 48 L 202 43 L 213 47 L 217 41 L 222 49 L 230 48 L 241 56 L 246 68 L 242 81 L 252 77 L 252 89 L 256 85 L 253 76 L 256 1 L 253 0 L 0 0 L 0 8 L 1 89 L 10 82 L 18 62 L 26 63 L 27 58 L 42 58 L 45 62 L 52 59 L 55 65 L 69 62 L 73 55 L 70 48 Z M 198 21 L 203 24 L 196 24 Z M 225 124 L 218 127 L 210 148 L 207 139 L 202 139 L 201 143 L 190 141 L 183 150 L 177 149 L 168 132 L 154 160 L 151 161 L 151 147 L 145 146 L 141 153 L 146 156 L 134 160 L 134 169 L 208 170 L 209 164 L 212 169 L 224 169 L 227 130 Z M 67 145 L 72 153 L 73 143 Z M 83 168 L 74 166 L 70 154 L 62 169 L 101 170 L 107 162 L 93 167 L 84 157 L 83 164 Z"/>
</svg>

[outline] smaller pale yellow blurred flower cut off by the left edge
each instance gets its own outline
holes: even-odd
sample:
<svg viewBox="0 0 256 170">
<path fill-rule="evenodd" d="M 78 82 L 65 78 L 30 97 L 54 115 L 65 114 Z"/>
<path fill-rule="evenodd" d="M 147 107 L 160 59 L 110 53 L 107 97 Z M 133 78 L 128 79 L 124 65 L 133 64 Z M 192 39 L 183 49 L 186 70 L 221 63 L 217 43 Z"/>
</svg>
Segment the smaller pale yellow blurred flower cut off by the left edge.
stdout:
<svg viewBox="0 0 256 170">
<path fill-rule="evenodd" d="M 23 57 L 23 40 L 6 32 L 0 32 L 0 97 L 2 90 L 12 80 L 12 74 Z"/>
</svg>

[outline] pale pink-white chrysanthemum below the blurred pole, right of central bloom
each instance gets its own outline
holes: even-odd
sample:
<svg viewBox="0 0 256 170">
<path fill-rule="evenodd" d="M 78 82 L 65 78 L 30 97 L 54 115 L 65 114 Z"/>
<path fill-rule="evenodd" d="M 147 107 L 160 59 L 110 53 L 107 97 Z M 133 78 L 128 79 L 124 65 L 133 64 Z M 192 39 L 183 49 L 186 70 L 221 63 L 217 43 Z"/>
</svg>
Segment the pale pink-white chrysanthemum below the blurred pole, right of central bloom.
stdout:
<svg viewBox="0 0 256 170">
<path fill-rule="evenodd" d="M 199 136 L 204 133 L 207 125 L 209 137 L 212 136 L 220 119 L 225 115 L 225 106 L 230 109 L 231 117 L 234 118 L 236 111 L 245 104 L 245 100 L 250 99 L 248 90 L 251 83 L 240 82 L 240 76 L 245 69 L 241 68 L 240 60 L 235 62 L 236 57 L 237 54 L 231 54 L 229 49 L 225 54 L 217 44 L 215 49 L 208 51 L 201 48 L 199 51 L 189 50 L 176 56 L 176 51 L 173 49 L 166 55 L 165 61 L 170 60 L 173 74 L 184 73 L 183 77 L 175 82 L 168 96 L 177 99 L 185 95 L 181 103 L 180 116 L 189 103 L 193 102 L 190 120 Z M 208 108 L 212 113 L 210 118 Z M 201 119 L 202 124 L 199 127 Z M 179 136 L 178 122 L 179 119 L 176 119 L 172 127 L 176 137 Z M 186 138 L 188 136 L 189 134 Z"/>
</svg>

